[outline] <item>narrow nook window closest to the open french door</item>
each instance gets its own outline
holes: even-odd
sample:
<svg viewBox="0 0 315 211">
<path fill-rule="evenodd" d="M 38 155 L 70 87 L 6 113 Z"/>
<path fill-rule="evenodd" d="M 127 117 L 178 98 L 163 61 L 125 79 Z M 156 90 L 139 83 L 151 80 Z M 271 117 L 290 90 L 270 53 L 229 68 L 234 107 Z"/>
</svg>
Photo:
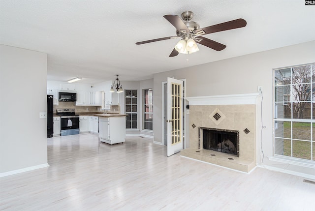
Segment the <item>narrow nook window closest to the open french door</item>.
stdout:
<svg viewBox="0 0 315 211">
<path fill-rule="evenodd" d="M 144 90 L 143 129 L 153 130 L 153 89 Z"/>
</svg>

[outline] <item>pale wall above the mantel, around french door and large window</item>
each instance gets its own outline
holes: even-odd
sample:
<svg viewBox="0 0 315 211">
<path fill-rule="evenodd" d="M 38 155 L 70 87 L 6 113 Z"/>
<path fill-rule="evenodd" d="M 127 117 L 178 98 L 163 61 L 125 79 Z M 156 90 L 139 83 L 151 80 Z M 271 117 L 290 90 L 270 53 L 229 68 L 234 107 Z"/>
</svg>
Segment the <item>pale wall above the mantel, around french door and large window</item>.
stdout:
<svg viewBox="0 0 315 211">
<path fill-rule="evenodd" d="M 202 53 L 202 52 L 197 52 Z M 179 55 L 181 56 L 181 55 Z M 263 151 L 264 164 L 272 156 L 272 69 L 315 61 L 315 41 L 264 51 L 246 56 L 172 70 L 154 75 L 153 128 L 155 142 L 162 143 L 162 82 L 167 77 L 187 79 L 187 97 L 223 94 L 244 94 L 263 90 Z M 259 125 L 258 125 L 259 126 Z M 259 148 L 258 148 L 259 147 Z M 257 160 L 260 160 L 257 140 Z M 314 169 L 313 169 L 314 171 Z M 314 173 L 314 172 L 313 172 Z"/>
</svg>

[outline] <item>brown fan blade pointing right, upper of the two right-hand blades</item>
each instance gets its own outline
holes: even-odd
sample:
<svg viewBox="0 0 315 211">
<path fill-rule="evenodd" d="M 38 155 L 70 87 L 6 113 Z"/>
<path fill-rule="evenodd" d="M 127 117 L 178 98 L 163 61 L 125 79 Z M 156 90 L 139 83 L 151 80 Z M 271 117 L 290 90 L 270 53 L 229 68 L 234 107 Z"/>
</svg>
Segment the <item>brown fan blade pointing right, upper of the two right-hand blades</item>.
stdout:
<svg viewBox="0 0 315 211">
<path fill-rule="evenodd" d="M 247 24 L 246 21 L 240 18 L 233 21 L 228 21 L 221 24 L 213 25 L 210 27 L 201 28 L 199 30 L 196 30 L 195 33 L 203 35 L 203 34 L 210 34 L 210 33 L 218 32 L 218 31 L 233 30 L 233 29 L 245 27 L 246 24 Z M 205 33 L 203 33 L 203 31 Z"/>
</svg>

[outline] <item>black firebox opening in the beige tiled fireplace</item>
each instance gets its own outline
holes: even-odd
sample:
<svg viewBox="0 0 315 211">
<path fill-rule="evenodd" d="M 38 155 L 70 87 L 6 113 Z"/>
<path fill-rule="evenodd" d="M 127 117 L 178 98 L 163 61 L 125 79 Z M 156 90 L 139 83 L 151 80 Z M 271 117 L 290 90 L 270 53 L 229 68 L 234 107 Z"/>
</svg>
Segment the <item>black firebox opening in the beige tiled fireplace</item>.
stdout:
<svg viewBox="0 0 315 211">
<path fill-rule="evenodd" d="M 234 154 L 239 157 L 239 131 L 200 128 L 202 129 L 202 148 Z"/>
</svg>

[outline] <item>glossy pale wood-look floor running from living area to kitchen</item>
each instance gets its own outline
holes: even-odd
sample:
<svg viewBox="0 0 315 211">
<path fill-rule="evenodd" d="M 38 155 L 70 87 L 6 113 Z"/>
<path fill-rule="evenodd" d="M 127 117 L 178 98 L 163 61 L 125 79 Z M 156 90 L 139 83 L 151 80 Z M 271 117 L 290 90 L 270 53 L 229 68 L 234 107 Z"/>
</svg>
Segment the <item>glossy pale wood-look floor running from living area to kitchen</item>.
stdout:
<svg viewBox="0 0 315 211">
<path fill-rule="evenodd" d="M 48 162 L 48 168 L 1 178 L 0 210 L 315 210 L 315 185 L 303 178 L 166 157 L 165 147 L 149 138 L 110 146 L 89 133 L 54 137 Z"/>
</svg>

